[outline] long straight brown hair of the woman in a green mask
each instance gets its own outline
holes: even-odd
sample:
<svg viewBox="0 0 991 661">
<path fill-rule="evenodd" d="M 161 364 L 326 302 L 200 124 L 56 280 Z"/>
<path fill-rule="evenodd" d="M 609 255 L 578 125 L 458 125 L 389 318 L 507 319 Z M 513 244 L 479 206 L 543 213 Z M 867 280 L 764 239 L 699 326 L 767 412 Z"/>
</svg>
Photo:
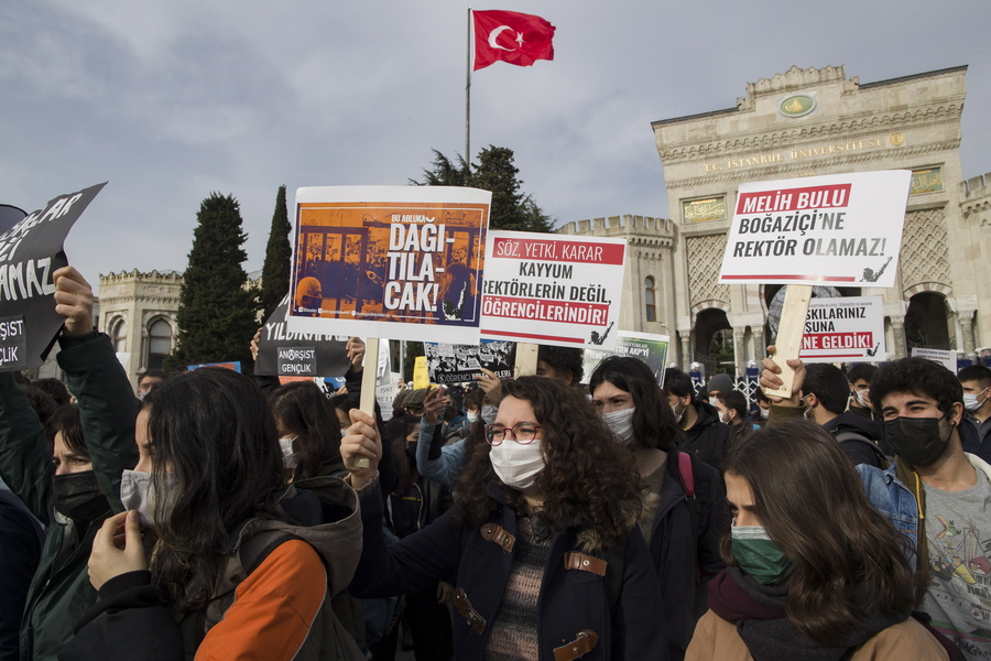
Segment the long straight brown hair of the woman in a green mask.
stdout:
<svg viewBox="0 0 991 661">
<path fill-rule="evenodd" d="M 830 644 L 869 613 L 912 608 L 908 543 L 868 500 L 828 432 L 804 421 L 762 427 L 730 447 L 723 472 L 750 484 L 753 512 L 792 561 L 785 613 L 803 633 Z M 739 566 L 731 549 L 727 531 L 722 559 Z"/>
</svg>

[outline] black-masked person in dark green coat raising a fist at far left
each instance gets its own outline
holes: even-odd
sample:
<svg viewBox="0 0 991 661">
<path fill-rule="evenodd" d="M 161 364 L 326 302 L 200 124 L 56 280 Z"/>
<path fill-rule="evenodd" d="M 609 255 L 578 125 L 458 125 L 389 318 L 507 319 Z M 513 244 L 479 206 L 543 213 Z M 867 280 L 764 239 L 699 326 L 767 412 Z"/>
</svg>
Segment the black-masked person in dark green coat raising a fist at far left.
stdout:
<svg viewBox="0 0 991 661">
<path fill-rule="evenodd" d="M 21 622 L 25 661 L 54 660 L 97 600 L 86 566 L 92 540 L 123 511 L 121 474 L 138 463 L 138 401 L 110 338 L 92 327 L 92 290 L 72 267 L 53 281 L 55 310 L 65 317 L 57 360 L 78 409 L 55 415 L 51 444 L 13 375 L 0 373 L 0 477 L 46 527 Z"/>
</svg>

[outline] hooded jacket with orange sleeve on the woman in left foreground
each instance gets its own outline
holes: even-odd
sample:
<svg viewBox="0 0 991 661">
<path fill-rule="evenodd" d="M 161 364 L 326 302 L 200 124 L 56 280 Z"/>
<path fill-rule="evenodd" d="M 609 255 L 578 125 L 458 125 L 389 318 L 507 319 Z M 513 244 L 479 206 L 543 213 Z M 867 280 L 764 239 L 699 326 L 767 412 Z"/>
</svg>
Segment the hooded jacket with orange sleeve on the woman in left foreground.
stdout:
<svg viewBox="0 0 991 661">
<path fill-rule="evenodd" d="M 177 624 L 149 572 L 121 574 L 100 588 L 100 600 L 59 659 L 361 660 L 330 605 L 330 595 L 350 581 L 361 551 L 358 499 L 338 478 L 315 479 L 337 492 L 340 519 L 320 523 L 320 500 L 290 485 L 279 502 L 291 521 L 259 517 L 230 532 L 227 560 L 205 609 L 181 614 Z M 300 539 L 279 544 L 249 572 L 241 550 L 269 531 Z"/>
</svg>

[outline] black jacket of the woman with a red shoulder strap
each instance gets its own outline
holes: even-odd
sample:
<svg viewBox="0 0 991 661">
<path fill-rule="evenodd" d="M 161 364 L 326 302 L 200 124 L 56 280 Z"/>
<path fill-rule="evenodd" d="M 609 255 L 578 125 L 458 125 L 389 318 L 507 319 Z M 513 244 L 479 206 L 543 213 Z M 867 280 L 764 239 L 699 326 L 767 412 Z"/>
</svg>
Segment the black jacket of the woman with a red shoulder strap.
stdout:
<svg viewBox="0 0 991 661">
<path fill-rule="evenodd" d="M 719 538 L 729 524 L 726 487 L 715 468 L 691 457 L 695 498 L 689 499 L 678 468 L 678 451 L 667 453 L 666 475 L 649 549 L 661 584 L 672 655 L 680 658 L 691 640 L 698 617 L 706 611 L 706 585 L 726 568 Z M 695 511 L 693 511 L 695 510 Z M 674 653 L 677 650 L 677 654 Z"/>
</svg>

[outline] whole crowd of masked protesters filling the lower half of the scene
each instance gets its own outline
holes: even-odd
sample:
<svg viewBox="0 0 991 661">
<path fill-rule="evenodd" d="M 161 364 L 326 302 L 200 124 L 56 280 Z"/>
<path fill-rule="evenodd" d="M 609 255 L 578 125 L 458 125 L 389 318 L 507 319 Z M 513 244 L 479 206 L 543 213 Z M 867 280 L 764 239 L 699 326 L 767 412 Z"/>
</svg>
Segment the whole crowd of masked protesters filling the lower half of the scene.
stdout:
<svg viewBox="0 0 991 661">
<path fill-rule="evenodd" d="M 59 381 L 0 373 L 0 661 L 991 659 L 991 370 L 138 391 L 55 272 Z M 587 377 L 587 378 L 585 378 Z M 584 384 L 587 383 L 587 384 Z M 391 413 L 391 415 L 389 414 Z"/>
</svg>

